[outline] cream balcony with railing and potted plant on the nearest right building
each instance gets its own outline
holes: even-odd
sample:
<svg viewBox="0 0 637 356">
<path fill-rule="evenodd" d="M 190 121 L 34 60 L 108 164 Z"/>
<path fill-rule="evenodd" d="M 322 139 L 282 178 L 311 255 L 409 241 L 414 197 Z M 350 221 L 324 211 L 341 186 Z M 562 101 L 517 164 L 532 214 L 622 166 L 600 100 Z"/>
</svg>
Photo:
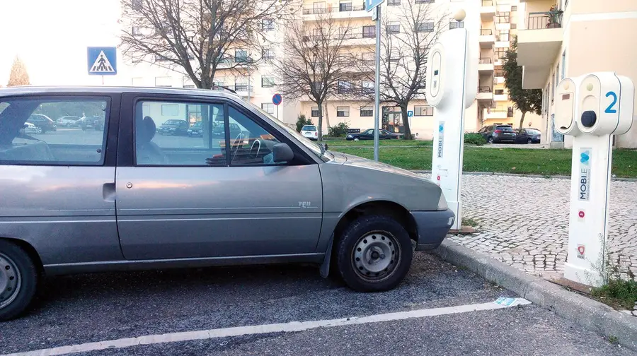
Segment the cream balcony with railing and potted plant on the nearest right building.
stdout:
<svg viewBox="0 0 637 356">
<path fill-rule="evenodd" d="M 549 77 L 562 41 L 561 12 L 532 12 L 527 29 L 517 32 L 517 64 L 524 66 L 522 88 L 540 89 Z"/>
</svg>

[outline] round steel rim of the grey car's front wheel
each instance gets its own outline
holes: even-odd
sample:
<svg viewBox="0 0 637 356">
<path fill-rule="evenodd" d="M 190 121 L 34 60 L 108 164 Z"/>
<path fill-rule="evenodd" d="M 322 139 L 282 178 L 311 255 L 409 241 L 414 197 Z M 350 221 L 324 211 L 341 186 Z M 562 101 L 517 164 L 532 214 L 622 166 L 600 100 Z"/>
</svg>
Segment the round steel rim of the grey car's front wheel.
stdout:
<svg viewBox="0 0 637 356">
<path fill-rule="evenodd" d="M 400 251 L 400 245 L 388 232 L 370 232 L 355 244 L 352 265 L 366 280 L 383 280 L 394 273 Z"/>
</svg>

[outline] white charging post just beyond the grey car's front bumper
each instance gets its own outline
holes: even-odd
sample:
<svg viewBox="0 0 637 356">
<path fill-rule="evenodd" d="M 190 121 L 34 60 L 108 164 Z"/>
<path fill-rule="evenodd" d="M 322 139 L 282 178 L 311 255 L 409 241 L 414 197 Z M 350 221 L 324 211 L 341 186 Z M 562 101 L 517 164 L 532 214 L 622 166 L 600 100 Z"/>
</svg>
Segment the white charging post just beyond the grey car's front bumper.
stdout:
<svg viewBox="0 0 637 356">
<path fill-rule="evenodd" d="M 454 18 L 464 20 L 459 11 Z M 476 40 L 476 39 L 474 39 Z M 442 189 L 456 215 L 452 230 L 461 230 L 461 178 L 464 152 L 464 110 L 478 92 L 478 43 L 464 28 L 447 30 L 427 57 L 427 104 L 436 108 L 433 135 L 432 181 Z"/>
</svg>

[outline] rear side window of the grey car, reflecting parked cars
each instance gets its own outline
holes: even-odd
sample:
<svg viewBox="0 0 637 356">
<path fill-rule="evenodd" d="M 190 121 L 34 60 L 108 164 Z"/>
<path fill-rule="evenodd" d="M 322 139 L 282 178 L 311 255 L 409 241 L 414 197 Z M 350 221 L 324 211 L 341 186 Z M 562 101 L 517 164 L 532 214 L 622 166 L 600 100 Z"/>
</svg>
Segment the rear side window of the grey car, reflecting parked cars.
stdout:
<svg viewBox="0 0 637 356">
<path fill-rule="evenodd" d="M 0 164 L 103 165 L 109 109 L 108 97 L 0 102 Z M 84 126 L 58 127 L 55 120 L 69 115 L 82 117 Z"/>
</svg>

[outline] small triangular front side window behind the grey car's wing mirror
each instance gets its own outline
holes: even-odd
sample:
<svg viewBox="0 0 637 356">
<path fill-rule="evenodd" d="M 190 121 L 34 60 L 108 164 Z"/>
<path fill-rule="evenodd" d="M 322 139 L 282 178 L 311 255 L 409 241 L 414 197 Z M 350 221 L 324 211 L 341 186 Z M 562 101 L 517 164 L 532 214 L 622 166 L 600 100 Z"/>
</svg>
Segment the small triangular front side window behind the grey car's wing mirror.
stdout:
<svg viewBox="0 0 637 356">
<path fill-rule="evenodd" d="M 274 162 L 272 148 L 280 141 L 263 126 L 234 107 L 228 109 L 228 121 L 231 165 L 285 165 Z"/>
</svg>

